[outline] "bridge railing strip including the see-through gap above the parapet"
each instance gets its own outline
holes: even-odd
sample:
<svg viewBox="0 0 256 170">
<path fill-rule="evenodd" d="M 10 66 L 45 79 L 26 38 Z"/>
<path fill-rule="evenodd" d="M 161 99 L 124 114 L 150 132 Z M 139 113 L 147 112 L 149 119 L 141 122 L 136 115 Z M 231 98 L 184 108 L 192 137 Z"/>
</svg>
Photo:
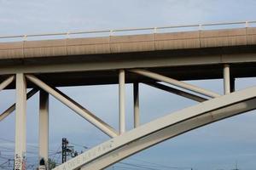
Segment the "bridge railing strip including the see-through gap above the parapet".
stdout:
<svg viewBox="0 0 256 170">
<path fill-rule="evenodd" d="M 42 39 L 60 39 L 73 37 L 104 37 L 104 36 L 121 36 L 121 35 L 135 35 L 137 33 L 164 33 L 164 32 L 179 32 L 179 31 L 201 31 L 212 29 L 230 29 L 230 28 L 247 28 L 255 27 L 256 20 L 241 21 L 241 22 L 225 22 L 225 23 L 208 23 L 182 26 L 160 26 L 160 27 L 143 27 L 143 28 L 127 28 L 127 29 L 113 29 L 113 30 L 99 30 L 99 31 L 67 31 L 59 33 L 46 34 L 28 34 L 19 36 L 4 36 L 0 40 L 4 42 L 13 41 L 29 41 Z M 132 32 L 132 33 L 131 33 Z"/>
</svg>

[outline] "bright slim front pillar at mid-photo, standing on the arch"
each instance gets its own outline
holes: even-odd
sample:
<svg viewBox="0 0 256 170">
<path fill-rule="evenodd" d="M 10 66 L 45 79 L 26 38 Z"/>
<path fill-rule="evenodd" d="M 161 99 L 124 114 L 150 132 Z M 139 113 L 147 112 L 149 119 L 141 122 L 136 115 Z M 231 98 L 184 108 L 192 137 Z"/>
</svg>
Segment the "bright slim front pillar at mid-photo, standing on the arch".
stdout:
<svg viewBox="0 0 256 170">
<path fill-rule="evenodd" d="M 125 71 L 119 71 L 119 134 L 125 133 Z"/>
</svg>

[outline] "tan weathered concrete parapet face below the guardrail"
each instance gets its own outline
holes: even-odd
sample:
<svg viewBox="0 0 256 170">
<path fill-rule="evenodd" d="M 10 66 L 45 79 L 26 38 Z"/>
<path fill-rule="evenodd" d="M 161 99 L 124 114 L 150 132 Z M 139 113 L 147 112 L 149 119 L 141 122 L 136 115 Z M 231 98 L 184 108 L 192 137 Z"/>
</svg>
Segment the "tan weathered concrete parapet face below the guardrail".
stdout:
<svg viewBox="0 0 256 170">
<path fill-rule="evenodd" d="M 256 28 L 0 43 L 0 59 L 256 45 Z"/>
</svg>

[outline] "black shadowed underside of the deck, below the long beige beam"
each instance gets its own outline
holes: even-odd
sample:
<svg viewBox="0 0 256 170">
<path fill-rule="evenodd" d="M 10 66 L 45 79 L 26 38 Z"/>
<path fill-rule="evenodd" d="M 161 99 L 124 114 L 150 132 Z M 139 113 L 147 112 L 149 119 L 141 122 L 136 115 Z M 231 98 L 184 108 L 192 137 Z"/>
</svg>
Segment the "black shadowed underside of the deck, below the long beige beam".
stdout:
<svg viewBox="0 0 256 170">
<path fill-rule="evenodd" d="M 243 55 L 241 55 L 242 59 Z M 256 54 L 253 56 L 256 59 Z M 164 62 L 164 60 L 163 60 Z M 166 60 L 168 63 L 168 60 Z M 78 64 L 79 65 L 79 64 Z M 120 64 L 121 65 L 121 64 Z M 256 62 L 232 64 L 230 65 L 230 77 L 256 77 Z M 55 65 L 56 68 L 58 65 Z M 70 65 L 67 65 L 67 69 Z M 87 66 L 90 66 L 89 64 Z M 222 79 L 224 65 L 197 65 L 197 66 L 174 66 L 174 67 L 154 67 L 147 68 L 148 71 L 154 71 L 166 77 L 172 77 L 177 80 L 201 80 L 201 79 Z M 71 66 L 72 67 L 72 66 Z M 0 67 L 1 70 L 2 67 Z M 30 67 L 28 67 L 30 68 Z M 81 67 L 82 68 L 82 67 Z M 83 67 L 86 69 L 86 65 Z M 146 68 L 146 67 L 145 67 Z M 15 69 L 15 68 L 14 68 Z M 36 67 L 35 72 L 40 72 Z M 46 69 L 46 68 L 45 68 Z M 65 69 L 63 67 L 62 69 Z M 50 69 L 49 69 L 50 70 Z M 1 72 L 2 73 L 2 72 Z M 132 82 L 155 82 L 151 78 L 127 71 L 125 77 L 126 83 Z M 102 84 L 118 84 L 119 71 L 68 71 L 54 73 L 36 73 L 38 78 L 54 87 L 82 86 L 82 85 L 102 85 Z M 7 76 L 0 76 L 0 82 L 5 80 Z M 33 84 L 28 82 L 28 88 L 34 88 Z M 7 88 L 15 88 L 15 83 L 11 83 Z"/>
</svg>

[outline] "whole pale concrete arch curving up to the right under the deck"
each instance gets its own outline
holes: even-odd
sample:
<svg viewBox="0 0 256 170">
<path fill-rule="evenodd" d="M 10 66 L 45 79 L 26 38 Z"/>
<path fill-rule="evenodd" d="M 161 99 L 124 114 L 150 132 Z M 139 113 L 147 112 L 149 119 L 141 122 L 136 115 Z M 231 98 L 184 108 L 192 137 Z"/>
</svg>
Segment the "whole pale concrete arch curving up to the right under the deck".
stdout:
<svg viewBox="0 0 256 170">
<path fill-rule="evenodd" d="M 256 87 L 247 88 L 199 105 L 177 111 L 132 129 L 97 145 L 83 154 L 55 167 L 55 170 L 102 169 L 154 144 L 211 122 L 235 116 L 256 107 Z"/>
</svg>

